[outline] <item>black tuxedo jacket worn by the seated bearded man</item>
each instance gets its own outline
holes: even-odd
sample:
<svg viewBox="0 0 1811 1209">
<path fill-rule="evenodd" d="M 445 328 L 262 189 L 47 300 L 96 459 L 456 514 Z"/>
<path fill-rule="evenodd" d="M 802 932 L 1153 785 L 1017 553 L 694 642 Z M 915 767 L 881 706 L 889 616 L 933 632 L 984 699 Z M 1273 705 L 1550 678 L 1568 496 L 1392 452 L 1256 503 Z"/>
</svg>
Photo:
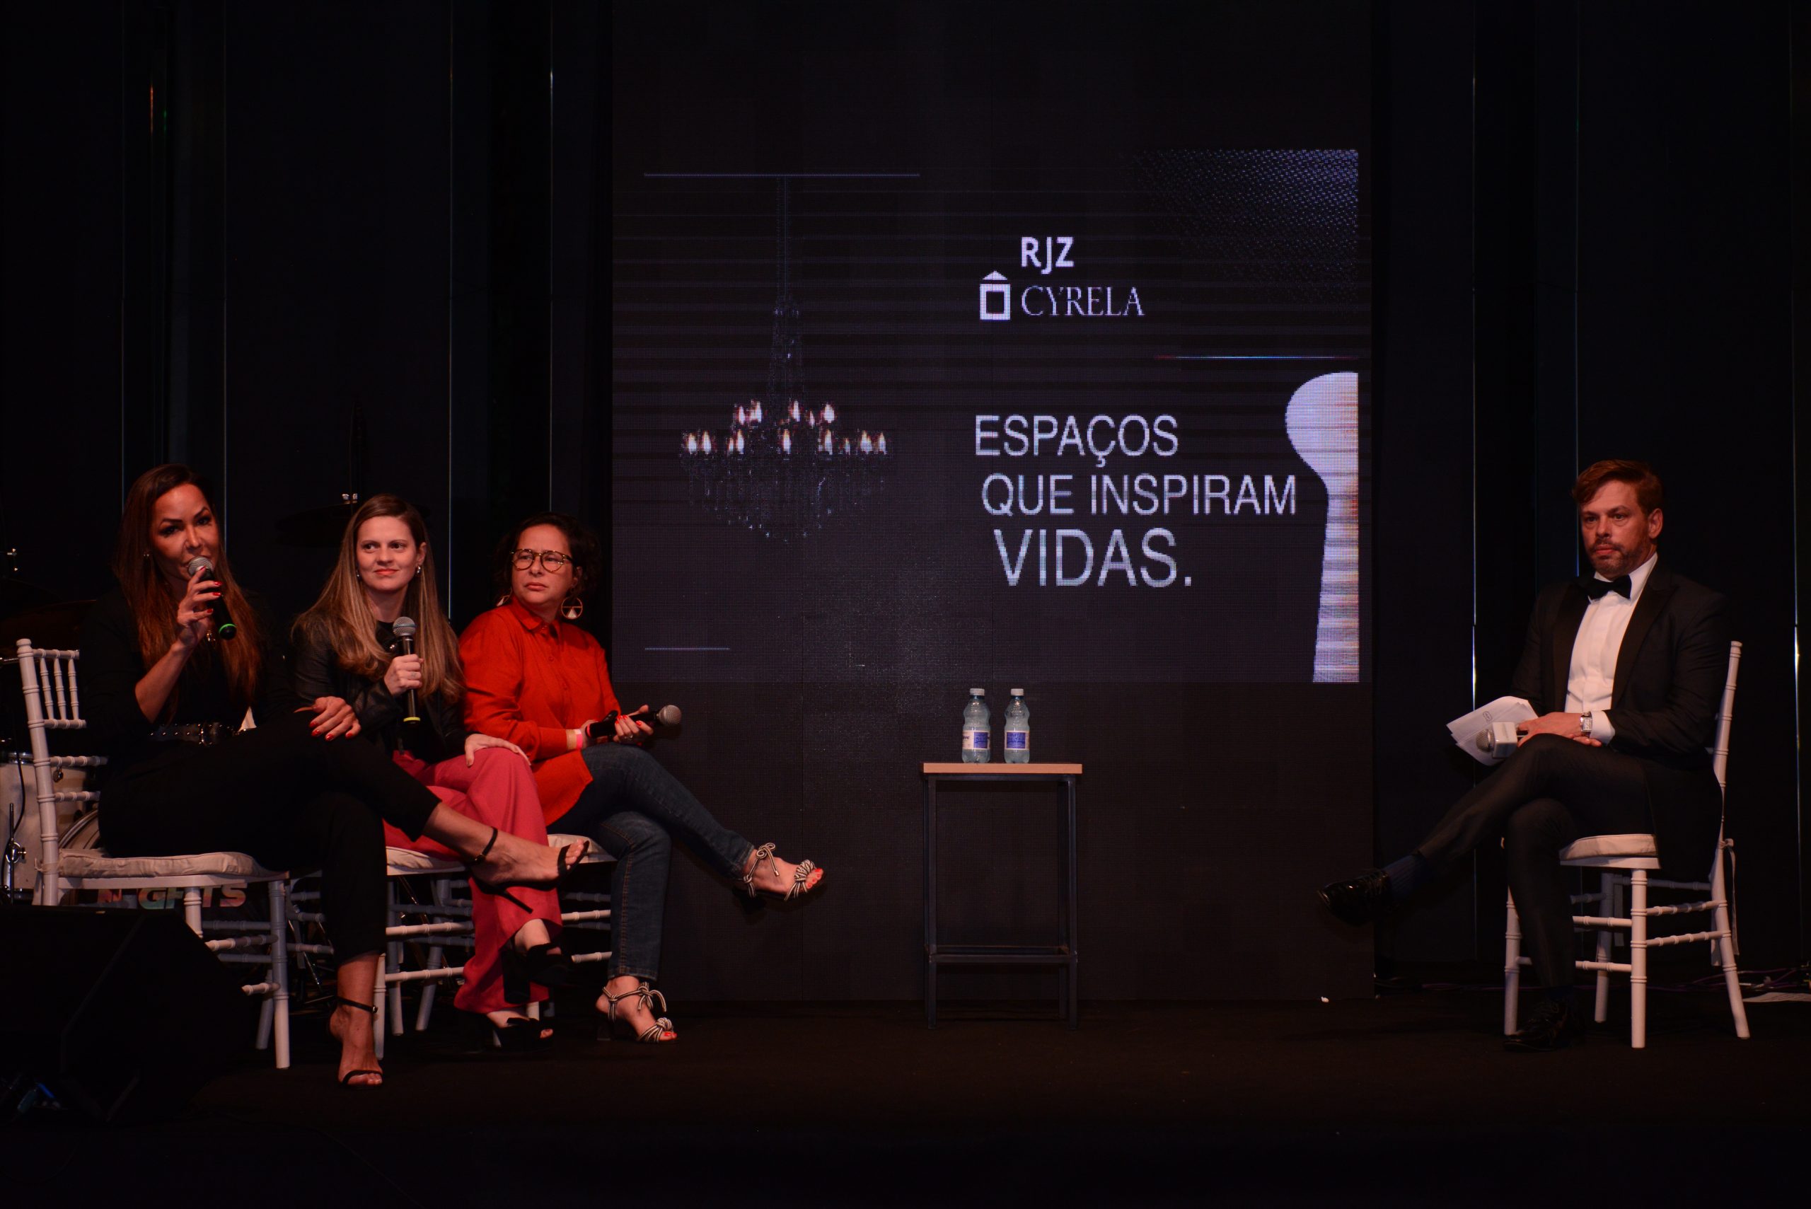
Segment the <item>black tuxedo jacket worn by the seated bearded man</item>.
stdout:
<svg viewBox="0 0 1811 1209">
<path fill-rule="evenodd" d="M 1567 708 L 1572 643 L 1590 597 L 1572 579 L 1534 601 L 1512 691 L 1534 711 Z M 1730 603 L 1655 561 L 1615 657 L 1606 747 L 1643 762 L 1653 842 L 1666 871 L 1704 878 L 1722 825 L 1710 746 L 1730 668 Z"/>
</svg>

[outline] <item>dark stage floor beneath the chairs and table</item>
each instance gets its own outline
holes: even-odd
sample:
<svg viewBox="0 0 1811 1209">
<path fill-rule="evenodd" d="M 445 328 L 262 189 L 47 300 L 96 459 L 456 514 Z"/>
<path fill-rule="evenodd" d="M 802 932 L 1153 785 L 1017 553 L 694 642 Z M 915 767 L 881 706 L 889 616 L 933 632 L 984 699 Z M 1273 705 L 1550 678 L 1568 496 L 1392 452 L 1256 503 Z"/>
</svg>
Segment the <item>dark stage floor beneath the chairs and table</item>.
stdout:
<svg viewBox="0 0 1811 1209">
<path fill-rule="evenodd" d="M 1739 1042 L 1720 990 L 1661 992 L 1634 1052 L 1617 997 L 1583 1048 L 1521 1055 L 1500 1003 L 1085 1003 L 1079 1032 L 1045 1004 L 927 1032 L 911 1003 L 676 1003 L 677 1044 L 598 1044 L 572 1012 L 525 1059 L 464 1052 L 442 1012 L 375 1093 L 333 1086 L 306 1014 L 288 1071 L 248 1052 L 165 1122 L 0 1149 L 14 1196 L 85 1204 L 1585 1204 L 1635 1155 L 1653 1204 L 1802 1187 L 1811 1004 L 1749 1004 Z"/>
</svg>

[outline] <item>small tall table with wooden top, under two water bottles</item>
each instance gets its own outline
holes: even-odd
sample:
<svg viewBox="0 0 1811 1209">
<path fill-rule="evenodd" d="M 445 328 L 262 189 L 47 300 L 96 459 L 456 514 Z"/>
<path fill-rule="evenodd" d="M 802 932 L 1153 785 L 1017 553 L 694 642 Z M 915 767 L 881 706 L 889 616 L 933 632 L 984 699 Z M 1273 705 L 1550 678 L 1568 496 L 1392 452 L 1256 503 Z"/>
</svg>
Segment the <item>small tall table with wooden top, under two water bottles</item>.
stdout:
<svg viewBox="0 0 1811 1209">
<path fill-rule="evenodd" d="M 925 764 L 924 766 L 924 1019 L 936 1028 L 936 966 L 940 965 L 1054 965 L 1061 968 L 1058 1014 L 1074 1028 L 1076 1006 L 1076 780 L 1079 764 Z M 1059 945 L 938 945 L 936 941 L 936 787 L 976 782 L 1061 785 L 1068 807 L 1068 843 L 1063 849 Z"/>
</svg>

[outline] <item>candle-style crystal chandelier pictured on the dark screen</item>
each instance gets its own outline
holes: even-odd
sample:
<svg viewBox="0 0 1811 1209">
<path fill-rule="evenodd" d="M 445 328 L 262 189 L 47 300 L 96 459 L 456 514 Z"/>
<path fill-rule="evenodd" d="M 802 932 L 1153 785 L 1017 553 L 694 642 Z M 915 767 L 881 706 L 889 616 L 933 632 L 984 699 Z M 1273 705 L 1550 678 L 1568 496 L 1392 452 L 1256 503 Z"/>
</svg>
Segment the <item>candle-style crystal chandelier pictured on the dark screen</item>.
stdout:
<svg viewBox="0 0 1811 1209">
<path fill-rule="evenodd" d="M 791 297 L 790 181 L 779 192 L 779 290 L 768 386 L 737 404 L 728 429 L 679 434 L 692 507 L 762 538 L 806 538 L 882 490 L 893 465 L 887 434 L 855 427 L 833 402 L 811 407 L 804 340 Z"/>
</svg>

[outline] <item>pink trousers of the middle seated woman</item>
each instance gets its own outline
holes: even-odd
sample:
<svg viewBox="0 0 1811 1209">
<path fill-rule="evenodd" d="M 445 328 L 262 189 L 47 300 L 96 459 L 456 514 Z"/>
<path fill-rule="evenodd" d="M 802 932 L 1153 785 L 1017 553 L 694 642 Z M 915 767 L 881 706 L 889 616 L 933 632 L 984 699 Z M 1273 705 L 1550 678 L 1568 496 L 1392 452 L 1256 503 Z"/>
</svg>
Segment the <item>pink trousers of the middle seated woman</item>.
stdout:
<svg viewBox="0 0 1811 1209">
<path fill-rule="evenodd" d="M 465 766 L 464 755 L 440 764 L 424 764 L 406 751 L 398 751 L 395 758 L 409 776 L 427 785 L 436 798 L 460 814 L 523 840 L 547 843 L 547 820 L 541 816 L 541 798 L 534 791 L 534 775 L 529 771 L 529 762 L 514 751 L 485 747 L 478 751 L 471 767 Z M 389 823 L 384 823 L 384 843 L 458 860 L 455 852 L 427 836 L 409 840 Z M 560 936 L 558 894 L 527 889 L 513 889 L 511 894 L 522 900 L 520 907 L 500 894 L 485 894 L 476 881 L 471 885 L 473 950 L 471 959 L 465 961 L 465 985 L 453 997 L 453 1004 L 460 1012 L 500 1012 L 523 1006 L 503 999 L 503 945 L 529 919 L 543 921 L 551 936 Z M 529 990 L 529 999 L 534 1003 L 547 997 L 547 990 L 541 986 Z"/>
</svg>

